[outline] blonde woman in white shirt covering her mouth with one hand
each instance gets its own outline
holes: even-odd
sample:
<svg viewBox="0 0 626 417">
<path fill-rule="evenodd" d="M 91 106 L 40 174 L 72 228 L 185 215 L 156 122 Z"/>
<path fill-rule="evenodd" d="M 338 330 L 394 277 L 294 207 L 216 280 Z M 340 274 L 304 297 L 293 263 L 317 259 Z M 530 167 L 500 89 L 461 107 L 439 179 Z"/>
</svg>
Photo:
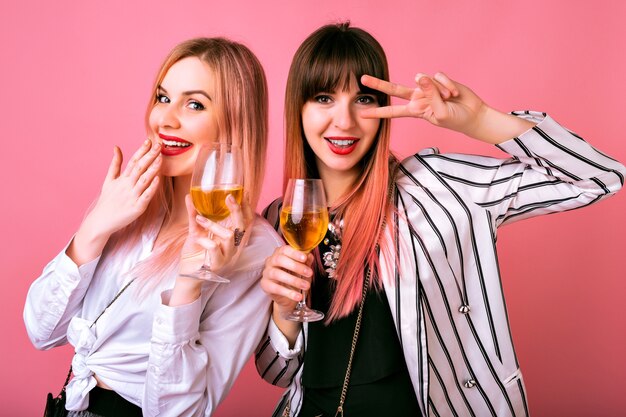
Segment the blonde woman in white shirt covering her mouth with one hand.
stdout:
<svg viewBox="0 0 626 417">
<path fill-rule="evenodd" d="M 75 348 L 70 416 L 210 415 L 269 314 L 258 279 L 280 240 L 253 214 L 267 145 L 259 61 L 224 38 L 179 44 L 156 77 L 146 128 L 149 139 L 123 169 L 115 147 L 100 196 L 26 300 L 37 348 Z M 216 141 L 244 155 L 244 202 L 227 197 L 223 224 L 198 216 L 188 197 L 198 150 Z M 229 284 L 179 275 L 205 250 Z"/>
</svg>

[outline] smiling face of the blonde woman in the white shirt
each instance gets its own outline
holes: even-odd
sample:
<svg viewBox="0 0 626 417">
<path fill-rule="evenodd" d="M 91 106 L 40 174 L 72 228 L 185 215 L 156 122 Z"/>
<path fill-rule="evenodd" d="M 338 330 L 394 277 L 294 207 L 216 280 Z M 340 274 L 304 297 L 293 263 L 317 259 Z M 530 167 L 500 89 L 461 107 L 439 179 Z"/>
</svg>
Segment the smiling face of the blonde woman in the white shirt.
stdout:
<svg viewBox="0 0 626 417">
<path fill-rule="evenodd" d="M 157 86 L 148 125 L 163 144 L 161 173 L 191 175 L 201 145 L 218 140 L 213 71 L 197 57 L 173 64 Z"/>
</svg>

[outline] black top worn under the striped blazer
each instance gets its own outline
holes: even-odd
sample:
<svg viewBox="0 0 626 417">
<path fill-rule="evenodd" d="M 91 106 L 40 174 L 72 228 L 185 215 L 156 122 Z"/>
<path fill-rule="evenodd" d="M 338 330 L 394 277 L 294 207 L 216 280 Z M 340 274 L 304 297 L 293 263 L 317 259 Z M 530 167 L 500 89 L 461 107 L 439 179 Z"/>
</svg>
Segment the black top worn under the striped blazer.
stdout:
<svg viewBox="0 0 626 417">
<path fill-rule="evenodd" d="M 322 256 L 335 244 L 332 238 L 329 232 L 320 244 Z M 317 272 L 311 289 L 312 308 L 327 314 L 334 284 L 324 271 Z M 348 317 L 329 325 L 309 323 L 299 416 L 335 415 L 357 316 L 358 306 Z M 372 289 L 366 296 L 344 412 L 351 416 L 421 415 L 384 291 Z"/>
</svg>

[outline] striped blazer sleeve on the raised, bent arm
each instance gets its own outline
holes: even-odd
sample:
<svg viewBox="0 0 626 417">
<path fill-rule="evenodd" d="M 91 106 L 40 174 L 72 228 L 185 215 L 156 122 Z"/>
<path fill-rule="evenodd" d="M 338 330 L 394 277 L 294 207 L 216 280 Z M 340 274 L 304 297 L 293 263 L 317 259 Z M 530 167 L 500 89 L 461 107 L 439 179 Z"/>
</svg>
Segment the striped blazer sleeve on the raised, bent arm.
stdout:
<svg viewBox="0 0 626 417">
<path fill-rule="evenodd" d="M 510 159 L 436 152 L 422 156 L 470 201 L 489 210 L 496 225 L 584 207 L 623 186 L 622 164 L 549 116 L 513 114 L 537 125 L 497 145 Z"/>
</svg>

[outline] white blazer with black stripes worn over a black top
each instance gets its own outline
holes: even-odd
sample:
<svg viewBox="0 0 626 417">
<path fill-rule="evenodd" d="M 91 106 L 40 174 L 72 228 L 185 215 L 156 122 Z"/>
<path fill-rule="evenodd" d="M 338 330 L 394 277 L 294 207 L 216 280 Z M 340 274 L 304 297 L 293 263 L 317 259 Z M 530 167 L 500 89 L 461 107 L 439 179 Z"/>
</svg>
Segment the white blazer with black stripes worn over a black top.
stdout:
<svg viewBox="0 0 626 417">
<path fill-rule="evenodd" d="M 420 408 L 425 416 L 528 416 L 496 254 L 496 229 L 513 221 L 580 208 L 618 191 L 624 166 L 543 113 L 499 145 L 512 158 L 439 154 L 404 160 L 396 179 L 393 242 L 381 256 L 384 287 Z M 278 228 L 275 202 L 266 217 Z M 306 332 L 306 326 L 303 329 Z M 256 354 L 270 383 L 289 387 L 297 415 L 303 388 L 301 333 L 294 349 L 273 322 Z M 275 413 L 275 415 L 277 415 Z"/>
</svg>

